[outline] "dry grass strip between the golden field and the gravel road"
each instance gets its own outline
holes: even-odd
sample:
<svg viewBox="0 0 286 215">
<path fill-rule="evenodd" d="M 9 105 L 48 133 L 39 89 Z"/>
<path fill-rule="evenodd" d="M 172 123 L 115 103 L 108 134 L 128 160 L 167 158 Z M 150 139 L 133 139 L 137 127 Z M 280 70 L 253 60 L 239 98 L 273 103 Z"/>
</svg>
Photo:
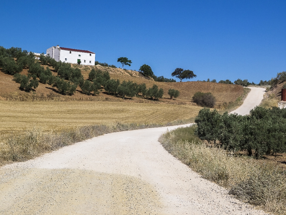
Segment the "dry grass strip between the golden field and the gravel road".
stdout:
<svg viewBox="0 0 286 215">
<path fill-rule="evenodd" d="M 182 125 L 190 122 L 193 122 L 193 119 L 158 124 L 121 124 L 118 122 L 114 125 L 81 126 L 60 132 L 46 132 L 40 128 L 33 128 L 20 133 L 6 133 L 0 139 L 0 166 L 32 159 L 43 153 L 106 133 Z"/>
</svg>

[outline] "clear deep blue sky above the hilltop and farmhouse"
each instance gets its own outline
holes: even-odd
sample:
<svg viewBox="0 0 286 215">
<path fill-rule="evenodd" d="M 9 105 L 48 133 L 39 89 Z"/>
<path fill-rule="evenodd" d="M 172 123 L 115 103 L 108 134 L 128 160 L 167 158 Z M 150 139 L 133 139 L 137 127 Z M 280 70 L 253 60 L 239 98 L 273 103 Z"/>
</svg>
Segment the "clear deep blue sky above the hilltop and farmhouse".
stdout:
<svg viewBox="0 0 286 215">
<path fill-rule="evenodd" d="M 286 70 L 286 1 L 1 1 L 0 46 L 90 50 L 171 78 L 269 80 Z"/>
</svg>

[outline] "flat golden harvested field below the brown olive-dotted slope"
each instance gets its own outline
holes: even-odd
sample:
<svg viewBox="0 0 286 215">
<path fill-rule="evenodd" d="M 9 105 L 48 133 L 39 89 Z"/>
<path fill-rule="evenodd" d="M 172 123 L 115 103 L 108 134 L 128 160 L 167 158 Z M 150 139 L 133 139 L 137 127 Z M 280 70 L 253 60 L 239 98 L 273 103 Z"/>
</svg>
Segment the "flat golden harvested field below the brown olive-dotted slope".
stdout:
<svg viewBox="0 0 286 215">
<path fill-rule="evenodd" d="M 127 102 L 0 101 L 0 132 L 42 127 L 61 130 L 82 125 L 165 123 L 195 117 L 201 107 Z"/>
</svg>

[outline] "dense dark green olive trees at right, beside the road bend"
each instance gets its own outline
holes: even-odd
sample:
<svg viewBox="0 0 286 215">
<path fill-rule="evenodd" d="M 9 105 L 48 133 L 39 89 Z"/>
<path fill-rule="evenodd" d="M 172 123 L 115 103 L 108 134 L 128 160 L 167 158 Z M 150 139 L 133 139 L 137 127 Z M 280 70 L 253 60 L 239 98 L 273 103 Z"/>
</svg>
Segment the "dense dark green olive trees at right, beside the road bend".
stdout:
<svg viewBox="0 0 286 215">
<path fill-rule="evenodd" d="M 255 107 L 249 115 L 220 115 L 203 108 L 195 119 L 195 134 L 218 148 L 262 155 L 286 152 L 286 110 Z"/>
</svg>

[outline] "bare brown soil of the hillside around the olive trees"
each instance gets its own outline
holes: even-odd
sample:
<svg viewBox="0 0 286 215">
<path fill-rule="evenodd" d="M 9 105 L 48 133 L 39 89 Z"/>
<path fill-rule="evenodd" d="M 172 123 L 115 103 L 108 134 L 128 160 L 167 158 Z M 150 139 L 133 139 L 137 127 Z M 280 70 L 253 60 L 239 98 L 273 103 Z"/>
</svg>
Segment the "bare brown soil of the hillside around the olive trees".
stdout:
<svg viewBox="0 0 286 215">
<path fill-rule="evenodd" d="M 44 66 L 46 67 L 46 66 Z M 147 87 L 152 87 L 154 84 L 164 89 L 163 99 L 160 102 L 164 103 L 174 103 L 174 104 L 191 104 L 192 96 L 194 93 L 201 92 L 211 92 L 217 99 L 217 108 L 220 108 L 236 101 L 236 99 L 243 94 L 243 87 L 239 85 L 227 85 L 218 84 L 211 82 L 155 82 L 153 79 L 145 78 L 141 73 L 133 70 L 123 70 L 120 68 L 102 67 L 100 65 L 96 66 L 82 66 L 74 64 L 73 67 L 79 67 L 85 79 L 88 77 L 88 73 L 91 68 L 99 68 L 101 70 L 107 70 L 110 73 L 111 78 L 123 80 L 130 80 L 136 83 L 146 83 Z M 52 70 L 52 67 L 50 67 Z M 22 74 L 27 74 L 27 69 L 22 71 Z M 54 72 L 54 75 L 57 73 Z M 149 99 L 136 98 L 133 99 L 121 99 L 119 97 L 107 95 L 104 90 L 98 96 L 87 96 L 81 93 L 80 88 L 72 96 L 63 96 L 57 93 L 57 90 L 52 88 L 51 85 L 39 84 L 35 91 L 26 93 L 19 90 L 20 84 L 14 82 L 13 76 L 0 72 L 0 99 L 2 100 L 41 100 L 45 98 L 46 100 L 54 101 L 70 101 L 70 100 L 83 100 L 83 101 L 124 101 L 124 102 L 139 102 L 139 103 L 154 103 L 158 101 L 152 101 Z M 180 91 L 180 96 L 177 99 L 170 100 L 167 94 L 170 88 L 174 88 Z M 48 99 L 47 99 L 48 98 Z"/>
</svg>

